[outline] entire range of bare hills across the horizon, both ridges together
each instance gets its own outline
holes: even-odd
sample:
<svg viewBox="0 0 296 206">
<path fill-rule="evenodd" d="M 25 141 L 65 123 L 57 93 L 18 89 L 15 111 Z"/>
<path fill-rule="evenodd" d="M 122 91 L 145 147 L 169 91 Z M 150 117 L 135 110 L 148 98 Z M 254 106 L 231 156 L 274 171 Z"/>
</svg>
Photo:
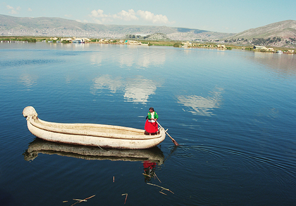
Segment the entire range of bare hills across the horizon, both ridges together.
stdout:
<svg viewBox="0 0 296 206">
<path fill-rule="evenodd" d="M 167 26 L 103 25 L 63 18 L 28 18 L 0 15 L 1 36 L 79 36 L 124 38 L 126 35 L 164 34 L 167 40 L 224 41 L 237 45 L 264 45 L 296 48 L 296 21 L 287 20 L 249 29 L 238 34 L 210 32 Z"/>
</svg>

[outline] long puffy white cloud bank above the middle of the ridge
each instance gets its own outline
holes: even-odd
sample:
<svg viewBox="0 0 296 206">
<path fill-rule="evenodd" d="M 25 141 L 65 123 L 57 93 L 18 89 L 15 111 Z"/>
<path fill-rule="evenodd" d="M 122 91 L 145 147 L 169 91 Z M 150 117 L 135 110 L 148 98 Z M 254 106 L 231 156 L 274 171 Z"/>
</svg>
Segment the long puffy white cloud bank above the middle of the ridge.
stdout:
<svg viewBox="0 0 296 206">
<path fill-rule="evenodd" d="M 153 14 L 150 11 L 138 10 L 135 12 L 133 9 L 128 11 L 121 10 L 116 14 L 104 14 L 102 9 L 92 10 L 90 17 L 93 17 L 93 21 L 98 24 L 112 22 L 113 20 L 121 21 L 145 21 L 152 24 L 170 24 L 167 16 L 162 14 Z"/>
</svg>

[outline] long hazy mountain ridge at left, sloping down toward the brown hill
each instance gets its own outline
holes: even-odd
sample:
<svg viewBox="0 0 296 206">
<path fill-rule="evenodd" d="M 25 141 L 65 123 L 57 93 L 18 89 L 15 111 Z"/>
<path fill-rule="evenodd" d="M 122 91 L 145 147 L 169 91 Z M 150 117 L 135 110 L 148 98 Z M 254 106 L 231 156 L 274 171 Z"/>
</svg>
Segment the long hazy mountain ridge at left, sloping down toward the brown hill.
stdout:
<svg viewBox="0 0 296 206">
<path fill-rule="evenodd" d="M 62 18 L 20 18 L 0 15 L 2 36 L 79 36 L 90 38 L 123 38 L 126 34 L 161 33 L 171 40 L 217 40 L 233 35 L 197 29 L 166 26 L 103 25 L 80 23 Z"/>
</svg>

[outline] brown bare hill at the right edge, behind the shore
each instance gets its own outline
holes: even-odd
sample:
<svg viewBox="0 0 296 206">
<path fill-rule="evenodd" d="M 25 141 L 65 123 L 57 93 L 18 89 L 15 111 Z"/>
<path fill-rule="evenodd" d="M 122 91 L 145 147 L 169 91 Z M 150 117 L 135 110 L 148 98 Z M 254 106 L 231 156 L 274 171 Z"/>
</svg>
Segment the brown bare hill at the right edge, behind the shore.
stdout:
<svg viewBox="0 0 296 206">
<path fill-rule="evenodd" d="M 296 21 L 287 20 L 229 36 L 229 43 L 296 47 Z"/>
</svg>

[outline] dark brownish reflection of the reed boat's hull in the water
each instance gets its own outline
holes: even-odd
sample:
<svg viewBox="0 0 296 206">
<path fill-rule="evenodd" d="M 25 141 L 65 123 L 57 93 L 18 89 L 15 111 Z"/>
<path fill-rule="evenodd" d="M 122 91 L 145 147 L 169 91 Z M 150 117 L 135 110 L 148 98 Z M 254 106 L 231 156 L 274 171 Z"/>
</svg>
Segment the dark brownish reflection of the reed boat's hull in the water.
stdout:
<svg viewBox="0 0 296 206">
<path fill-rule="evenodd" d="M 28 149 L 23 153 L 24 159 L 32 161 L 37 158 L 39 153 L 85 160 L 149 161 L 158 165 L 164 162 L 164 155 L 158 147 L 150 149 L 112 149 L 56 143 L 38 137 L 29 143 Z"/>
</svg>

